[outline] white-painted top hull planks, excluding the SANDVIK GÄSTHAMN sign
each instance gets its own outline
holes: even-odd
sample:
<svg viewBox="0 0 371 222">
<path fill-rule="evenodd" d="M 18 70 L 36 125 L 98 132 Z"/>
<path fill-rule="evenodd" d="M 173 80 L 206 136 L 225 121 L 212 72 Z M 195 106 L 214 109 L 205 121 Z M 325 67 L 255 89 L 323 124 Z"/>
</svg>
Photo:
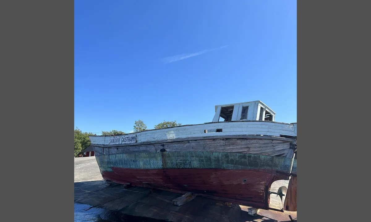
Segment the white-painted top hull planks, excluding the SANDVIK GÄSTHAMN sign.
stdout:
<svg viewBox="0 0 371 222">
<path fill-rule="evenodd" d="M 223 132 L 212 132 L 214 129 L 223 129 Z M 207 129 L 208 133 L 204 133 Z M 175 138 L 205 137 L 213 135 L 270 135 L 296 136 L 293 125 L 265 121 L 240 121 L 240 122 L 217 122 L 200 125 L 186 125 L 136 133 L 137 142 L 158 141 Z M 113 137 L 91 136 L 92 144 L 108 145 Z"/>
</svg>

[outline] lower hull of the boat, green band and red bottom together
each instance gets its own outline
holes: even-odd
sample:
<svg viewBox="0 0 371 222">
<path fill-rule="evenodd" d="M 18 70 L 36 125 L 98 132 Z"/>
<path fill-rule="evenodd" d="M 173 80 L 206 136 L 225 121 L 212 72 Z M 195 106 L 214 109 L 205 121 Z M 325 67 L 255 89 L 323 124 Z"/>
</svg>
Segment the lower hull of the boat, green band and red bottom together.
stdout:
<svg viewBox="0 0 371 222">
<path fill-rule="evenodd" d="M 230 152 L 142 152 L 96 156 L 102 177 L 171 192 L 269 208 L 272 182 L 288 179 L 290 158 Z"/>
</svg>

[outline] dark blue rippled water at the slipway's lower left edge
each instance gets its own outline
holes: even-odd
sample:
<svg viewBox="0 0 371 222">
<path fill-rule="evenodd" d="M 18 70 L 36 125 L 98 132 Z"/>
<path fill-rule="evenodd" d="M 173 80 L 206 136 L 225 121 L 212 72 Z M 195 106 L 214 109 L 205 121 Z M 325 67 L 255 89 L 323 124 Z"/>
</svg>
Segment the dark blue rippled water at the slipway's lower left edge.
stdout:
<svg viewBox="0 0 371 222">
<path fill-rule="evenodd" d="M 163 222 L 139 216 L 124 215 L 102 208 L 91 208 L 90 205 L 75 203 L 75 222 Z"/>
</svg>

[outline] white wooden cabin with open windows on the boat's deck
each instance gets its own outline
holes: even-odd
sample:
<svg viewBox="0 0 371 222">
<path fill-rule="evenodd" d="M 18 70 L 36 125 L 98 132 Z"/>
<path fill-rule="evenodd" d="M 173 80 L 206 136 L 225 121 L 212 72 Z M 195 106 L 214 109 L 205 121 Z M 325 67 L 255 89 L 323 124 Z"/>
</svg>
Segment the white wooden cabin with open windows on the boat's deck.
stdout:
<svg viewBox="0 0 371 222">
<path fill-rule="evenodd" d="M 276 113 L 262 101 L 216 105 L 212 122 L 225 121 L 275 121 Z"/>
</svg>

